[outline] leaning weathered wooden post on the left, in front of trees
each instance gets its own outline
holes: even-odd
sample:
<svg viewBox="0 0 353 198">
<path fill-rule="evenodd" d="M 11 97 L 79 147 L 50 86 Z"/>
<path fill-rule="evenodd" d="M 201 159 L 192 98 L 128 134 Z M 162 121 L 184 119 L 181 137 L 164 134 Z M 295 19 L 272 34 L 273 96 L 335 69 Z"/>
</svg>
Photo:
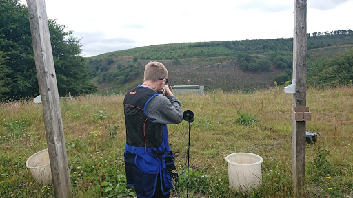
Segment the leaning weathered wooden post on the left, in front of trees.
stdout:
<svg viewBox="0 0 353 198">
<path fill-rule="evenodd" d="M 55 197 L 70 197 L 72 192 L 70 172 L 63 134 L 57 78 L 50 44 L 46 4 L 44 0 L 27 0 L 27 7 L 39 92 L 43 104 L 43 120 L 46 129 L 54 194 Z"/>
</svg>

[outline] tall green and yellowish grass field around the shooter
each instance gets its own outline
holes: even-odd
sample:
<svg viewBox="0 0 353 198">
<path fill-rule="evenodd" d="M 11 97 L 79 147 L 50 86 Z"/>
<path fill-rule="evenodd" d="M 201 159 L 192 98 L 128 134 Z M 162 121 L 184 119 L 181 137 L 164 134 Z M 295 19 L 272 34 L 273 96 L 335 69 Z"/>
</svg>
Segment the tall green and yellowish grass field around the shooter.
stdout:
<svg viewBox="0 0 353 198">
<path fill-rule="evenodd" d="M 217 90 L 178 98 L 183 111 L 194 111 L 190 197 L 293 197 L 292 94 L 284 94 L 279 87 L 250 94 Z M 318 142 L 306 148 L 307 197 L 353 195 L 352 99 L 352 87 L 307 90 L 312 112 L 307 130 L 320 133 Z M 25 166 L 30 155 L 47 148 L 41 104 L 21 100 L 0 106 L 0 197 L 54 197 L 53 187 L 34 181 Z M 239 112 L 257 122 L 237 123 Z M 133 195 L 125 185 L 123 95 L 61 100 L 61 113 L 73 197 Z M 181 172 L 188 122 L 170 125 L 169 133 Z M 263 184 L 250 195 L 228 188 L 225 157 L 235 152 L 263 157 Z M 173 196 L 186 197 L 184 176 Z"/>
</svg>

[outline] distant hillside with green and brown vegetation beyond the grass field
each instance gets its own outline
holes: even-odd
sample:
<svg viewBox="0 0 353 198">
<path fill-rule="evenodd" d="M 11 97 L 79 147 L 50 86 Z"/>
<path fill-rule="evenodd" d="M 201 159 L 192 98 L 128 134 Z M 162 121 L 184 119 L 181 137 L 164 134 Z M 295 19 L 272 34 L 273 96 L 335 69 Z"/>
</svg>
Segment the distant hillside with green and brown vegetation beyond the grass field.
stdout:
<svg viewBox="0 0 353 198">
<path fill-rule="evenodd" d="M 308 69 L 317 68 L 321 64 L 317 60 L 327 58 L 327 62 L 353 49 L 352 31 L 313 35 L 307 36 Z M 205 85 L 205 91 L 251 91 L 292 79 L 292 45 L 292 39 L 152 45 L 88 58 L 88 68 L 101 91 L 114 93 L 141 84 L 144 65 L 149 61 L 160 61 L 168 68 L 171 85 Z"/>
</svg>

